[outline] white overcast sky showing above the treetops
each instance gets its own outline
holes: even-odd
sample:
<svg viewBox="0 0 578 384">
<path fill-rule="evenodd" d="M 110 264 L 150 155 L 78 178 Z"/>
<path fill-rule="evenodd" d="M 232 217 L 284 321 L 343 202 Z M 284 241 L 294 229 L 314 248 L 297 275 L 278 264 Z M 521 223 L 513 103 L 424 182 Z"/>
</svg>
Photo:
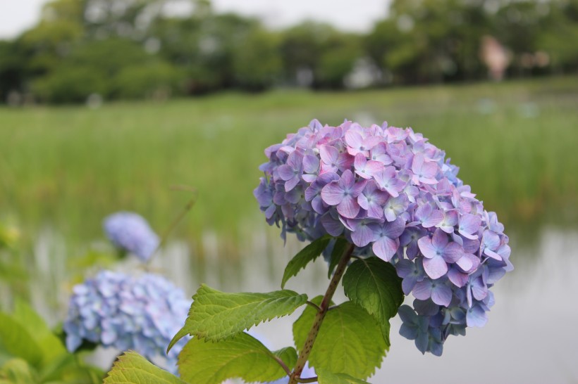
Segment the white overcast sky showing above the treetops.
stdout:
<svg viewBox="0 0 578 384">
<path fill-rule="evenodd" d="M 16 37 L 34 25 L 47 0 L 0 0 L 0 39 Z M 216 11 L 259 16 L 272 27 L 305 19 L 326 21 L 342 30 L 364 32 L 386 15 L 388 0 L 213 0 Z"/>
</svg>

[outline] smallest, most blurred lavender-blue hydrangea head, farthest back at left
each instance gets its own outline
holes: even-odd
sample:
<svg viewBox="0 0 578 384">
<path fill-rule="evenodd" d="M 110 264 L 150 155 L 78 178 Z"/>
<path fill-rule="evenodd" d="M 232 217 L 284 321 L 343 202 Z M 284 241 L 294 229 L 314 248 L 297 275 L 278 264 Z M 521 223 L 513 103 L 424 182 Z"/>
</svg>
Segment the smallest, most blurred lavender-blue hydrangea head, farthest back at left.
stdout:
<svg viewBox="0 0 578 384">
<path fill-rule="evenodd" d="M 104 232 L 116 248 L 147 262 L 159 246 L 159 236 L 147 220 L 133 212 L 117 212 L 104 219 Z"/>
</svg>

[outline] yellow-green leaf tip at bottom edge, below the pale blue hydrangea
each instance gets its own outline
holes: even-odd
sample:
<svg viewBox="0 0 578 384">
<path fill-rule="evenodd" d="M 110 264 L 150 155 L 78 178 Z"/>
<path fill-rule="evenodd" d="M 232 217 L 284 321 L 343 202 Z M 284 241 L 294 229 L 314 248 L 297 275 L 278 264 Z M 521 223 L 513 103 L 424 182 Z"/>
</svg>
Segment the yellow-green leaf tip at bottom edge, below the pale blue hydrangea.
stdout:
<svg viewBox="0 0 578 384">
<path fill-rule="evenodd" d="M 150 363 L 137 352 L 128 351 L 118 357 L 104 384 L 185 384 L 183 380 Z"/>
</svg>

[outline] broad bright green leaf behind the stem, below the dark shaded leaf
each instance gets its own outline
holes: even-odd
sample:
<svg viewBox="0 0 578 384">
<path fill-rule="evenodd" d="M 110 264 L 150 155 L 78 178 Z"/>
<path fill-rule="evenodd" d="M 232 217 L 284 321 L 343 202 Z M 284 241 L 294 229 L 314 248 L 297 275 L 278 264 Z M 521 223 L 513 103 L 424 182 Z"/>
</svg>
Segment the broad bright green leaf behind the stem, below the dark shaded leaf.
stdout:
<svg viewBox="0 0 578 384">
<path fill-rule="evenodd" d="M 297 347 L 305 344 L 315 314 L 314 308 L 307 307 L 293 324 Z M 367 378 L 381 365 L 385 350 L 386 343 L 376 319 L 349 301 L 327 312 L 309 354 L 309 365 Z"/>
</svg>

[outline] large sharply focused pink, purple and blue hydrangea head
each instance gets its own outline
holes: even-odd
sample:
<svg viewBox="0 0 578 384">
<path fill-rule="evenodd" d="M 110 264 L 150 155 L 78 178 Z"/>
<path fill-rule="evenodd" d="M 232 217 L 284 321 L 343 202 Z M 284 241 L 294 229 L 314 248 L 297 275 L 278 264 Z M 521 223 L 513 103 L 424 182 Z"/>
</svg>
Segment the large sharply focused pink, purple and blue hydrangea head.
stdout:
<svg viewBox="0 0 578 384">
<path fill-rule="evenodd" d="M 484 326 L 506 271 L 508 236 L 445 153 L 412 129 L 313 120 L 266 148 L 254 196 L 269 224 L 314 240 L 344 236 L 359 256 L 395 265 L 413 308 L 400 333 L 440 355 L 448 335 Z"/>
</svg>

